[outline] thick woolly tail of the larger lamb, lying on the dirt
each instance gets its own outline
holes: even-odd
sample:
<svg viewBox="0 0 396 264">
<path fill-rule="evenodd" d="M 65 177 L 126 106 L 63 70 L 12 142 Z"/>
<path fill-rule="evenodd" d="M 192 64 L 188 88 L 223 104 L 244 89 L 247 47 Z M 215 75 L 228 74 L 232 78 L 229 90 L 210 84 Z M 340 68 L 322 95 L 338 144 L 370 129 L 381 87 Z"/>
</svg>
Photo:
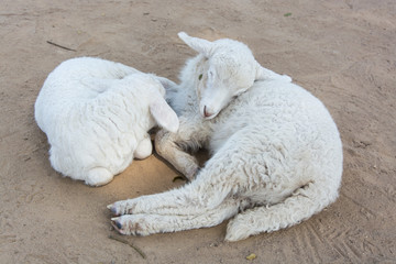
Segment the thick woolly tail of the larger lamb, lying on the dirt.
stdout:
<svg viewBox="0 0 396 264">
<path fill-rule="evenodd" d="M 227 241 L 238 241 L 261 232 L 272 232 L 310 218 L 338 197 L 338 187 L 309 183 L 283 202 L 249 209 L 232 219 Z"/>
</svg>

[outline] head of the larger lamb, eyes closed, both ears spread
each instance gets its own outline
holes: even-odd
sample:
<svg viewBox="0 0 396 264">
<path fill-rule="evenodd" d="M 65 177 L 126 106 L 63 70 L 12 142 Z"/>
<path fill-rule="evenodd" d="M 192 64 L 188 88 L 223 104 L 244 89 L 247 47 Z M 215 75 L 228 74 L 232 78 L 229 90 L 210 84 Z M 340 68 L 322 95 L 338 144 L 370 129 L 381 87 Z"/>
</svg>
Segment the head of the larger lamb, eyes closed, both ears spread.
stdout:
<svg viewBox="0 0 396 264">
<path fill-rule="evenodd" d="M 255 80 L 286 78 L 262 67 L 241 42 L 229 38 L 209 42 L 184 32 L 178 36 L 201 57 L 195 78 L 199 80 L 196 85 L 199 112 L 205 119 L 215 118 Z"/>
</svg>

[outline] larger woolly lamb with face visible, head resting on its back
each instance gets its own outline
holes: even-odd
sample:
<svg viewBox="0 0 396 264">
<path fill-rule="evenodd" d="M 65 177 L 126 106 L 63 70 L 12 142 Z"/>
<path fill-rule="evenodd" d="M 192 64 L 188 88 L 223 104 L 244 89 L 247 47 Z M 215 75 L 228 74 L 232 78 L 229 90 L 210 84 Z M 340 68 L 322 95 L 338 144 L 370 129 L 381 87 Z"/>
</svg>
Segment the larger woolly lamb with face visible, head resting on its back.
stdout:
<svg viewBox="0 0 396 264">
<path fill-rule="evenodd" d="M 191 183 L 108 206 L 120 216 L 116 229 L 147 235 L 234 217 L 226 240 L 238 241 L 299 223 L 333 202 L 342 145 L 324 106 L 260 66 L 242 43 L 179 36 L 199 55 L 169 94 L 179 130 L 160 131 L 155 144 Z M 198 147 L 212 154 L 201 169 L 186 153 Z"/>
</svg>

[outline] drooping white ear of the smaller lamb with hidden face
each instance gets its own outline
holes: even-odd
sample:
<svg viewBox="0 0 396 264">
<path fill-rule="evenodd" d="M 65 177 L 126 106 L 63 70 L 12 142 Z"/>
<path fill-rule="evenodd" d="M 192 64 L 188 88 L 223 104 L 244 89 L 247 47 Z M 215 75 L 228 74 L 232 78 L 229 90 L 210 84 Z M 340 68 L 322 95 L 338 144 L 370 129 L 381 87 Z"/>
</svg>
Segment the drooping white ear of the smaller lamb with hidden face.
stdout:
<svg viewBox="0 0 396 264">
<path fill-rule="evenodd" d="M 155 96 L 150 103 L 150 112 L 161 128 L 176 133 L 179 121 L 175 111 L 166 103 L 161 96 Z"/>
</svg>

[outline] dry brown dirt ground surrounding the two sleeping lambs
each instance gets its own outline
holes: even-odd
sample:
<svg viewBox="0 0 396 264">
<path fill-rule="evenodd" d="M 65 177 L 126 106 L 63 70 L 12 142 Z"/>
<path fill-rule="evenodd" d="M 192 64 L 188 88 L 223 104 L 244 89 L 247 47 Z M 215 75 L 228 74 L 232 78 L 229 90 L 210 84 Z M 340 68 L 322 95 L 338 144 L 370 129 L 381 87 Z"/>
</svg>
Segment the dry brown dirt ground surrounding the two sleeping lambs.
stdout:
<svg viewBox="0 0 396 264">
<path fill-rule="evenodd" d="M 77 56 L 177 80 L 195 55 L 179 31 L 242 41 L 262 65 L 323 101 L 344 150 L 333 205 L 237 243 L 223 242 L 227 222 L 122 237 L 146 258 L 109 239 L 118 234 L 108 204 L 185 183 L 173 182 L 177 173 L 155 155 L 100 188 L 62 177 L 34 101 L 48 73 Z M 0 263 L 396 263 L 394 0 L 2 0 L 0 36 Z"/>
</svg>

